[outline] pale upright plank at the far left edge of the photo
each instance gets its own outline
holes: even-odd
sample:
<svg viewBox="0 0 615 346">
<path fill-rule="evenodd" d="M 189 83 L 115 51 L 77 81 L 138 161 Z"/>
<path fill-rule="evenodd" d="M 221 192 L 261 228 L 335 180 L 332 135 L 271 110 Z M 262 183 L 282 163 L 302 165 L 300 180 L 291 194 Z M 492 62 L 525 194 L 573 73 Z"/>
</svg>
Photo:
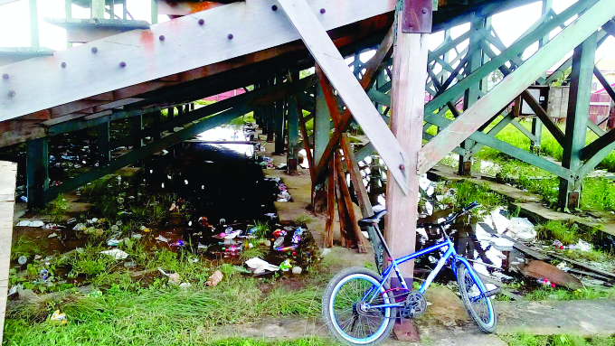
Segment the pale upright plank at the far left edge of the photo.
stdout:
<svg viewBox="0 0 615 346">
<path fill-rule="evenodd" d="M 17 164 L 0 161 L 0 325 L 5 325 L 8 272 L 11 268 L 11 244 Z M 4 328 L 2 328 L 4 330 Z M 0 330 L 0 341 L 3 339 Z"/>
</svg>

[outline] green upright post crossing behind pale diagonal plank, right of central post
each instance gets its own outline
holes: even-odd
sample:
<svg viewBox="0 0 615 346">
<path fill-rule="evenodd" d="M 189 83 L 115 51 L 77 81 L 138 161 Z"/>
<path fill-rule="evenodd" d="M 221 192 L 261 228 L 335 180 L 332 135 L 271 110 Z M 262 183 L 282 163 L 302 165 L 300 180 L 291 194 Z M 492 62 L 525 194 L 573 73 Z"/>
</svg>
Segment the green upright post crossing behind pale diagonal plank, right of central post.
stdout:
<svg viewBox="0 0 615 346">
<path fill-rule="evenodd" d="M 485 18 L 475 16 L 471 22 L 470 30 L 481 30 L 485 25 Z M 473 35 L 469 39 L 468 46 L 468 66 L 465 70 L 466 76 L 471 74 L 473 71 L 478 70 L 480 68 L 481 62 L 483 61 L 483 53 L 480 49 L 481 41 L 483 37 L 481 35 Z M 463 98 L 463 110 L 470 108 L 477 100 L 480 95 L 480 90 L 483 89 L 482 82 L 485 79 L 480 79 L 476 83 L 469 86 L 466 89 L 464 98 Z M 485 91 L 487 91 L 487 85 L 485 85 Z M 471 139 L 466 139 L 461 143 L 461 148 L 469 149 L 471 148 L 475 142 Z M 470 156 L 470 151 L 466 150 L 467 154 L 459 155 L 459 175 L 469 175 L 472 173 L 472 157 Z"/>
</svg>

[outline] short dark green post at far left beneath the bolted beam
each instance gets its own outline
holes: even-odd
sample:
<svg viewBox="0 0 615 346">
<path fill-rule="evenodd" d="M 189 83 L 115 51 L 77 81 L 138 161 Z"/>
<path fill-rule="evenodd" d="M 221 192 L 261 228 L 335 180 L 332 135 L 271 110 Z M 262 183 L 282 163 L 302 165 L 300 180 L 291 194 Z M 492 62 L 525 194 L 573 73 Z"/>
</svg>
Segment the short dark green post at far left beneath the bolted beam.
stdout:
<svg viewBox="0 0 615 346">
<path fill-rule="evenodd" d="M 49 190 L 49 145 L 48 137 L 26 142 L 26 179 L 28 205 L 43 204 L 44 194 Z"/>
</svg>

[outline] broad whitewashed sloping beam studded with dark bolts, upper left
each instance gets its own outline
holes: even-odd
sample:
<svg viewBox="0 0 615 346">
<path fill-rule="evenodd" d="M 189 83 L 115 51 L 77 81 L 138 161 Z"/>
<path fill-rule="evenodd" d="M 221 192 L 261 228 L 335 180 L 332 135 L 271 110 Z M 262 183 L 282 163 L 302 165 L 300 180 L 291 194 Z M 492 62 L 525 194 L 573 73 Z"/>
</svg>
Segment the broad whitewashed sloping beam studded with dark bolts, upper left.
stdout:
<svg viewBox="0 0 615 346">
<path fill-rule="evenodd" d="M 335 6 L 326 0 L 309 2 L 317 10 L 327 8 L 326 15 L 322 16 L 322 26 L 326 30 L 390 13 L 395 6 L 394 0 L 337 0 Z M 298 33 L 289 30 L 284 15 L 271 11 L 275 4 L 274 0 L 263 0 L 224 5 L 155 24 L 149 30 L 120 33 L 56 51 L 50 57 L 0 67 L 0 74 L 18 77 L 0 85 L 0 95 L 3 95 L 0 120 L 200 69 L 298 40 Z M 199 25 L 200 19 L 206 24 Z M 228 37 L 230 33 L 233 34 L 232 40 Z M 158 39 L 161 35 L 165 36 L 164 41 Z M 98 49 L 95 54 L 91 51 L 94 47 Z M 177 54 L 177 51 L 183 53 Z M 216 53 L 212 54 L 212 51 Z M 127 63 L 125 68 L 119 66 L 120 61 Z M 67 62 L 67 68 L 62 69 L 61 62 Z M 228 70 L 228 64 L 224 70 Z M 9 89 L 15 90 L 15 96 L 6 102 Z"/>
</svg>

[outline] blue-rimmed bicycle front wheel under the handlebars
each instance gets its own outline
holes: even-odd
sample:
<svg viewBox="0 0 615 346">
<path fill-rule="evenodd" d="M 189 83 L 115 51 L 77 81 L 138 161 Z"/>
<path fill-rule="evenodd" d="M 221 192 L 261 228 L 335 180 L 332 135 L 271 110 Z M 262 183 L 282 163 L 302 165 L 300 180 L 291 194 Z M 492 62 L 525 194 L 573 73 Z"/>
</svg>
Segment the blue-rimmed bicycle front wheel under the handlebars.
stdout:
<svg viewBox="0 0 615 346">
<path fill-rule="evenodd" d="M 476 274 L 472 276 L 465 264 L 460 263 L 457 269 L 457 283 L 461 300 L 466 305 L 466 309 L 472 320 L 478 324 L 478 329 L 482 332 L 496 332 L 496 311 L 491 303 L 491 297 L 486 297 L 480 293 L 480 288 L 486 290 L 485 285 L 480 281 Z"/>
</svg>

